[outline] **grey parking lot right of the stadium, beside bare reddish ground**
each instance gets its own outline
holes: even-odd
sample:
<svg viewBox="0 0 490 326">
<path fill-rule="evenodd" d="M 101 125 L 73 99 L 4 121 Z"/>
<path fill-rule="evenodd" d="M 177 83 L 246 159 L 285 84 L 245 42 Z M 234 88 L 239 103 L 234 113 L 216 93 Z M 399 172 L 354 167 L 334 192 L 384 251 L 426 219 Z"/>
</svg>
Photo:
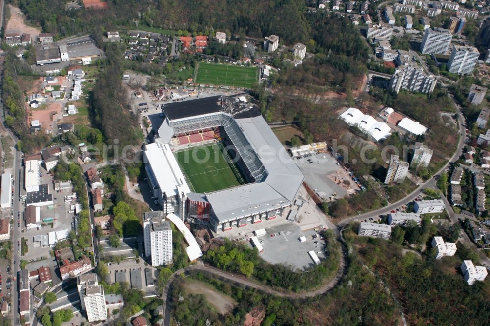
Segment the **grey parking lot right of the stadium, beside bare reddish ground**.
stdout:
<svg viewBox="0 0 490 326">
<path fill-rule="evenodd" d="M 304 174 L 308 186 L 317 194 L 321 194 L 319 197 L 328 199 L 336 194 L 336 198 L 342 198 L 347 194 L 346 189 L 328 177 L 329 174 L 343 169 L 329 153 L 294 159 L 294 162 Z"/>
</svg>

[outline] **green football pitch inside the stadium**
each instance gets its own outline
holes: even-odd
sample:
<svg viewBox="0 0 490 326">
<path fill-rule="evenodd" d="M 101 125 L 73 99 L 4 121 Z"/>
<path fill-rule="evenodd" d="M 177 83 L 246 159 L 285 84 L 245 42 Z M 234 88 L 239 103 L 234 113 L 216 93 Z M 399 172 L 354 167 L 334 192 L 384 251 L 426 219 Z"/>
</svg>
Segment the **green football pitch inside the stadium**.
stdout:
<svg viewBox="0 0 490 326">
<path fill-rule="evenodd" d="M 175 153 L 192 191 L 211 192 L 245 184 L 237 166 L 225 160 L 220 147 L 212 144 Z"/>
</svg>

